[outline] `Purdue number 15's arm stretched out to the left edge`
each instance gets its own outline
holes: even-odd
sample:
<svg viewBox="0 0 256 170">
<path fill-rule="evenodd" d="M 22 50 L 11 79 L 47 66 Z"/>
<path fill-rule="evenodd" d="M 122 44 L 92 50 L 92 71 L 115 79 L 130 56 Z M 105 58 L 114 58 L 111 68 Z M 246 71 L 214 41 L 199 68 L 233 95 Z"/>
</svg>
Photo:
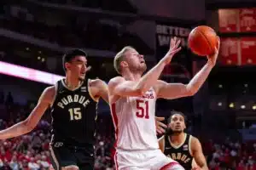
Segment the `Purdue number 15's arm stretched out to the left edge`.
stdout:
<svg viewBox="0 0 256 170">
<path fill-rule="evenodd" d="M 30 116 L 25 121 L 19 122 L 12 127 L 0 131 L 0 139 L 9 139 L 32 131 L 37 126 L 40 118 L 44 115 L 49 105 L 54 99 L 55 87 L 45 88 L 38 100 L 38 105 L 33 109 Z"/>
</svg>

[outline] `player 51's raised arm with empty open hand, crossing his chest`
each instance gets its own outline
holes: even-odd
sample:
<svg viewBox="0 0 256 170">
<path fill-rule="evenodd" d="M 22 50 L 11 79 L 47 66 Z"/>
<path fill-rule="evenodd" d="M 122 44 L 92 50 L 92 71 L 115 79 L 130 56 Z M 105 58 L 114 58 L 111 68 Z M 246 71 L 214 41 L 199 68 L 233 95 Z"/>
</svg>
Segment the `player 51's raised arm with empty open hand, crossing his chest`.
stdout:
<svg viewBox="0 0 256 170">
<path fill-rule="evenodd" d="M 138 82 L 125 81 L 123 77 L 114 77 L 108 83 L 108 90 L 111 95 L 119 96 L 141 96 L 153 87 L 160 77 L 166 64 L 169 64 L 174 54 L 176 54 L 181 47 L 179 47 L 180 40 L 172 38 L 170 42 L 170 49 L 166 56 L 160 60 L 148 73 L 146 73 Z"/>
</svg>

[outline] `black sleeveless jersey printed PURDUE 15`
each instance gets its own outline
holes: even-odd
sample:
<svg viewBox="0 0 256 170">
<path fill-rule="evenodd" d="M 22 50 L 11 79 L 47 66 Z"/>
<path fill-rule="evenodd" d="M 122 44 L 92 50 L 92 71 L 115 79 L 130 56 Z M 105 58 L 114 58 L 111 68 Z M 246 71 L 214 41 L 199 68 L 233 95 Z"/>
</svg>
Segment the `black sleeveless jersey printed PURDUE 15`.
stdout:
<svg viewBox="0 0 256 170">
<path fill-rule="evenodd" d="M 88 79 L 73 91 L 64 82 L 56 83 L 55 101 L 51 107 L 52 143 L 94 144 L 97 102 L 90 96 Z"/>
</svg>

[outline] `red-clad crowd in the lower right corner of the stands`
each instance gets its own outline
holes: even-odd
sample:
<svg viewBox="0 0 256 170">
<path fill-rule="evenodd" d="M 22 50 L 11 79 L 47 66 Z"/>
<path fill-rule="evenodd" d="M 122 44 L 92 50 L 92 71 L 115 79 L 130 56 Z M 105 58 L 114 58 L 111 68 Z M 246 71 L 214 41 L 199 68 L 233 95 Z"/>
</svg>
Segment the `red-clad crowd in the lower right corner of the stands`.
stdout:
<svg viewBox="0 0 256 170">
<path fill-rule="evenodd" d="M 209 140 L 203 145 L 203 150 L 210 169 L 256 169 L 256 142 L 241 143 L 229 138 L 221 143 Z"/>
</svg>

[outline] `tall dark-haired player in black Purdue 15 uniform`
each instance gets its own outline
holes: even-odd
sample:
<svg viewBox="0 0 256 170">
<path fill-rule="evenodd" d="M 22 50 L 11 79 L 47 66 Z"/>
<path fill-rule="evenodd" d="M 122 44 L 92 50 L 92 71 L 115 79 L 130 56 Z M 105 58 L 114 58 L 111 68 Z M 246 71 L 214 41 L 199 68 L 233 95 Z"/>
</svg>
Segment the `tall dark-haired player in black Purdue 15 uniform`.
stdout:
<svg viewBox="0 0 256 170">
<path fill-rule="evenodd" d="M 51 108 L 52 140 L 50 152 L 55 170 L 94 168 L 96 107 L 100 97 L 108 101 L 108 87 L 99 79 L 85 78 L 87 59 L 84 51 L 73 49 L 63 57 L 66 78 L 46 88 L 25 121 L 0 131 L 9 139 L 32 131 L 44 111 Z"/>
</svg>

